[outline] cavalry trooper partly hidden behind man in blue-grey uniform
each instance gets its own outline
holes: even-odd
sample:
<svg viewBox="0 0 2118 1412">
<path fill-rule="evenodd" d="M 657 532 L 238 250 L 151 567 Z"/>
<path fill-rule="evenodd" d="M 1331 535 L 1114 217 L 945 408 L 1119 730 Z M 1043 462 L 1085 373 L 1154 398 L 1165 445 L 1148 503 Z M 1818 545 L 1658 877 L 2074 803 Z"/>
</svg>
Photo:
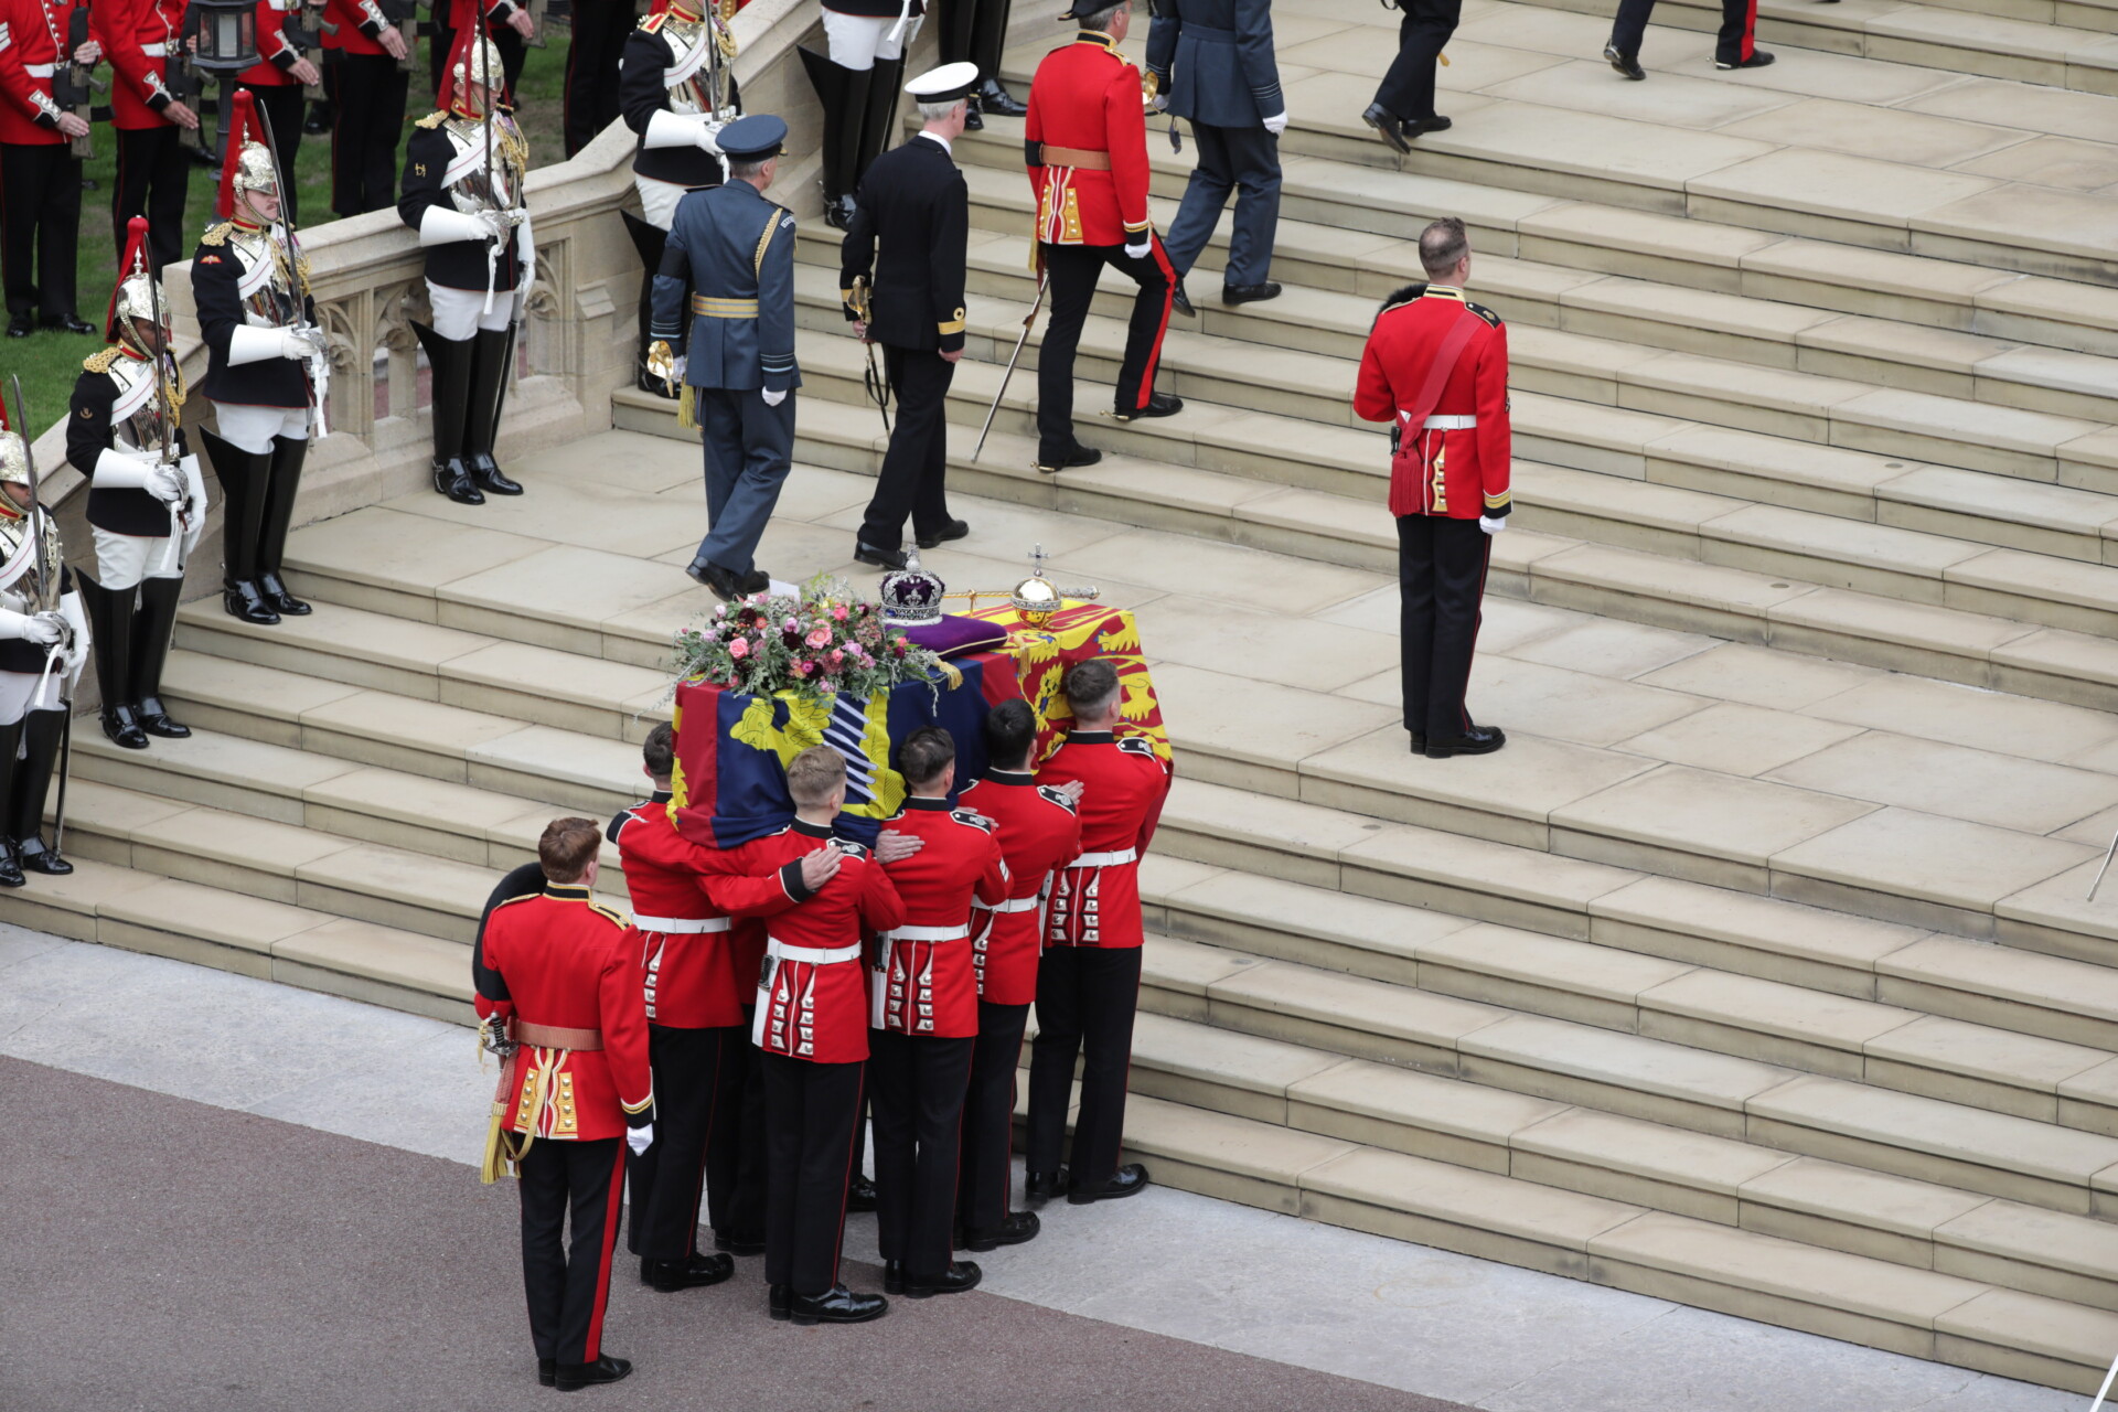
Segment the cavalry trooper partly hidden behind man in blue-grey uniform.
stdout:
<svg viewBox="0 0 2118 1412">
<path fill-rule="evenodd" d="M 654 324 L 654 271 L 661 269 L 678 199 L 686 191 L 729 180 L 716 133 L 735 116 L 729 97 L 735 83 L 729 74 L 733 57 L 735 38 L 718 11 L 705 13 L 697 0 L 669 0 L 669 8 L 648 15 L 627 36 L 618 68 L 618 108 L 625 125 L 640 135 L 633 152 L 640 216 L 625 212 L 625 229 L 646 269 L 640 279 L 635 381 L 642 392 L 659 396 L 676 394 L 646 362 Z"/>
</svg>

